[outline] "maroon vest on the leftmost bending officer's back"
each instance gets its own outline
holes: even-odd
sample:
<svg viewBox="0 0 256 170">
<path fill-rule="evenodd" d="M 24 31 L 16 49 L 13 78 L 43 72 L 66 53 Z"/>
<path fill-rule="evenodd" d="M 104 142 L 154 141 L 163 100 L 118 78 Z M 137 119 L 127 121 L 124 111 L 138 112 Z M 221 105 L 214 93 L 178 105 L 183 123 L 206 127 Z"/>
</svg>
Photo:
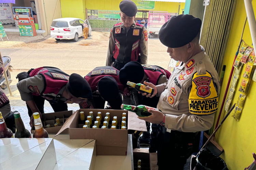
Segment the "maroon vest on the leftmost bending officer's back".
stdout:
<svg viewBox="0 0 256 170">
<path fill-rule="evenodd" d="M 29 73 L 29 77 L 38 74 L 42 75 L 44 78 L 44 89 L 40 94 L 37 86 L 34 86 L 35 92 L 32 92 L 32 95 L 42 96 L 47 100 L 55 99 L 61 87 L 69 82 L 69 75 L 55 67 L 40 67 L 33 69 Z"/>
</svg>

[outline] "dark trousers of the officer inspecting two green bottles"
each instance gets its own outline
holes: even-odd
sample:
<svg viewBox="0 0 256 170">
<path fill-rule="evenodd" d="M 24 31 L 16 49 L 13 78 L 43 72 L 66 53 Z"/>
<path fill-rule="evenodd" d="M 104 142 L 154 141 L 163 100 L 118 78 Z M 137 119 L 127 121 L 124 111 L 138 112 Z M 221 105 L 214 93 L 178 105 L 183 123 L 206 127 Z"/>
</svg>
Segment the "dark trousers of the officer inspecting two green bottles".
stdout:
<svg viewBox="0 0 256 170">
<path fill-rule="evenodd" d="M 157 165 L 159 170 L 183 170 L 186 160 L 193 152 L 197 133 L 171 131 L 157 132 Z"/>
</svg>

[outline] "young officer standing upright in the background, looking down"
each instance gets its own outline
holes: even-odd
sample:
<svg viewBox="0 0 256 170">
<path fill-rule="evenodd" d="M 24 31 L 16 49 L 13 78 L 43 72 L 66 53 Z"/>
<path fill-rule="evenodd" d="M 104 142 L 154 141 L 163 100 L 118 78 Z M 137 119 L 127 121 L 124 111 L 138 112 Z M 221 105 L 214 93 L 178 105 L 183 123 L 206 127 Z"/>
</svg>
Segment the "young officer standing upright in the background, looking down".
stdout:
<svg viewBox="0 0 256 170">
<path fill-rule="evenodd" d="M 134 22 L 137 6 L 130 0 L 119 4 L 122 23 L 115 24 L 109 35 L 106 66 L 120 70 L 130 61 L 147 64 L 147 30 Z"/>
</svg>

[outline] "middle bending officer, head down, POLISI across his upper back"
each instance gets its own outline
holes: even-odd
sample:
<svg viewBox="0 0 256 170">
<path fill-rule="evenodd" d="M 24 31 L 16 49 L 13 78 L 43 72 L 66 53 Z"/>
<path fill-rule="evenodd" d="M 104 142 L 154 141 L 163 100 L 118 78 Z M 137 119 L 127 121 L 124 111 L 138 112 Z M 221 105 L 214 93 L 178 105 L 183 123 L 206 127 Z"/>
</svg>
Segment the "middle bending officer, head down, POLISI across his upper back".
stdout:
<svg viewBox="0 0 256 170">
<path fill-rule="evenodd" d="M 120 110 L 121 104 L 131 104 L 131 90 L 119 81 L 119 71 L 111 66 L 96 67 L 85 77 L 93 92 L 95 108 L 103 109 L 105 101 L 111 109 Z M 122 94 L 122 95 L 120 95 Z"/>
</svg>

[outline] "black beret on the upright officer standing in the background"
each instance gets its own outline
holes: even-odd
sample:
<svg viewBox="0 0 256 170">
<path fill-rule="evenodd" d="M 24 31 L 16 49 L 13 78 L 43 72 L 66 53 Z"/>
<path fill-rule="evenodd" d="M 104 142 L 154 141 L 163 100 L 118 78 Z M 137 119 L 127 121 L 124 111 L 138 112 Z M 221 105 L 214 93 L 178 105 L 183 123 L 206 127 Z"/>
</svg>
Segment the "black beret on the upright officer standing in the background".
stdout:
<svg viewBox="0 0 256 170">
<path fill-rule="evenodd" d="M 119 4 L 120 11 L 128 17 L 134 17 L 137 14 L 137 6 L 130 0 L 123 0 Z"/>
</svg>

